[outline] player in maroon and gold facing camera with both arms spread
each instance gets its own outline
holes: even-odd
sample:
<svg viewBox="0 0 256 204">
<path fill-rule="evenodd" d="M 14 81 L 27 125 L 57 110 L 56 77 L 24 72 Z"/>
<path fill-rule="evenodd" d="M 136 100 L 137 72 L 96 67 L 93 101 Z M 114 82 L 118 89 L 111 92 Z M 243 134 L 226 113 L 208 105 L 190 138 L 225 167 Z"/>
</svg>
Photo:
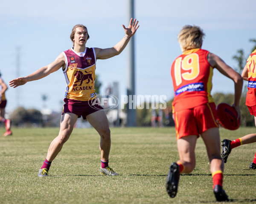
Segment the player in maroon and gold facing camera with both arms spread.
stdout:
<svg viewBox="0 0 256 204">
<path fill-rule="evenodd" d="M 133 21 L 131 18 L 129 26 L 126 28 L 122 25 L 122 27 L 125 31 L 125 37 L 112 48 L 87 48 L 85 46 L 89 39 L 87 28 L 78 24 L 73 27 L 72 33 L 70 34 L 73 48 L 62 52 L 52 63 L 38 69 L 38 71 L 35 71 L 27 77 L 20 77 L 10 81 L 10 86 L 16 88 L 17 86 L 24 85 L 26 82 L 46 77 L 52 72 L 62 68 L 67 82 L 60 132 L 50 144 L 47 157 L 38 172 L 38 176 L 48 176 L 48 171 L 53 159 L 55 159 L 61 151 L 63 144 L 69 139 L 77 118 L 81 116 L 83 116 L 84 119 L 86 118 L 100 135 L 100 173 L 109 176 L 118 175 L 108 166 L 111 134 L 105 111 L 99 111 L 99 109 L 103 108 L 97 102 L 94 82 L 96 60 L 108 59 L 120 54 L 139 28 L 138 21 L 136 21 L 136 19 Z M 92 108 L 93 105 L 95 108 Z"/>
</svg>

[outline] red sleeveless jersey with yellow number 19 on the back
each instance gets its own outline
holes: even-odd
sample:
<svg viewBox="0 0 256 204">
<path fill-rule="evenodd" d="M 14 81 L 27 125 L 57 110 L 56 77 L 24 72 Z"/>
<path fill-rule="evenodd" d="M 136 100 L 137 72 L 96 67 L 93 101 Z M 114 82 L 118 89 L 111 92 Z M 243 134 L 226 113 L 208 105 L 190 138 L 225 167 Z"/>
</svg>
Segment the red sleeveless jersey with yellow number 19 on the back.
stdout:
<svg viewBox="0 0 256 204">
<path fill-rule="evenodd" d="M 191 49 L 172 63 L 173 110 L 181 111 L 214 102 L 210 94 L 213 67 L 207 60 L 208 54 L 209 51 L 203 49 Z"/>
</svg>

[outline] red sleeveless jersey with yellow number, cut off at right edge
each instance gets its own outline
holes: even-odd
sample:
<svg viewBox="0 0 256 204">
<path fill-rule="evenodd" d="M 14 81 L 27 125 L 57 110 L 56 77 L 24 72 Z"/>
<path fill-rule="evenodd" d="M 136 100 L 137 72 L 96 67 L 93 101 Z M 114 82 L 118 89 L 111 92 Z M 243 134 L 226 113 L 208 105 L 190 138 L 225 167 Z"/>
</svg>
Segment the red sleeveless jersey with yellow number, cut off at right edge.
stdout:
<svg viewBox="0 0 256 204">
<path fill-rule="evenodd" d="M 248 71 L 248 91 L 246 95 L 245 105 L 256 105 L 256 50 L 250 54 L 246 62 Z"/>
</svg>

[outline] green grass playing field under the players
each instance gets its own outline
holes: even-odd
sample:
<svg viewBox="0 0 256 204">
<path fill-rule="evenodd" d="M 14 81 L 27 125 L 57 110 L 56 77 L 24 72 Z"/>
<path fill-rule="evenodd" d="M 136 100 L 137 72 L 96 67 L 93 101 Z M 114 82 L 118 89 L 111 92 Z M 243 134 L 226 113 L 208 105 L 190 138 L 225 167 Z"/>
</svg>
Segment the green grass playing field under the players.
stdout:
<svg viewBox="0 0 256 204">
<path fill-rule="evenodd" d="M 4 132 L 3 129 L 1 129 Z M 99 173 L 99 135 L 93 128 L 74 129 L 52 162 L 49 177 L 38 178 L 50 142 L 58 128 L 13 128 L 0 138 L 0 203 L 3 204 L 167 204 L 212 203 L 212 177 L 202 139 L 196 146 L 197 164 L 182 175 L 178 193 L 170 198 L 165 182 L 177 161 L 175 129 L 111 128 L 110 166 L 120 176 Z M 221 139 L 237 139 L 255 127 L 221 131 Z M 255 144 L 232 150 L 225 164 L 224 189 L 233 203 L 256 202 L 256 170 L 249 165 Z"/>
</svg>

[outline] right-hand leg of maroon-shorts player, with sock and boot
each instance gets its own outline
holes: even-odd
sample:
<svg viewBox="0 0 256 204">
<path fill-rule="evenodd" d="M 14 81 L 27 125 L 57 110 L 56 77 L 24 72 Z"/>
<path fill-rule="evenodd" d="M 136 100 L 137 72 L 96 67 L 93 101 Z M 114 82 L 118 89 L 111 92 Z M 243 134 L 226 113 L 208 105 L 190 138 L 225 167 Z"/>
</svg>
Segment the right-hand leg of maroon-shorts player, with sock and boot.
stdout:
<svg viewBox="0 0 256 204">
<path fill-rule="evenodd" d="M 100 135 L 99 149 L 101 151 L 101 161 L 102 166 L 100 167 L 100 172 L 103 175 L 116 176 L 118 175 L 108 166 L 108 158 L 111 148 L 111 135 L 108 125 L 108 118 L 105 111 L 96 111 L 86 116 L 86 119 L 95 128 L 95 130 Z"/>
</svg>

